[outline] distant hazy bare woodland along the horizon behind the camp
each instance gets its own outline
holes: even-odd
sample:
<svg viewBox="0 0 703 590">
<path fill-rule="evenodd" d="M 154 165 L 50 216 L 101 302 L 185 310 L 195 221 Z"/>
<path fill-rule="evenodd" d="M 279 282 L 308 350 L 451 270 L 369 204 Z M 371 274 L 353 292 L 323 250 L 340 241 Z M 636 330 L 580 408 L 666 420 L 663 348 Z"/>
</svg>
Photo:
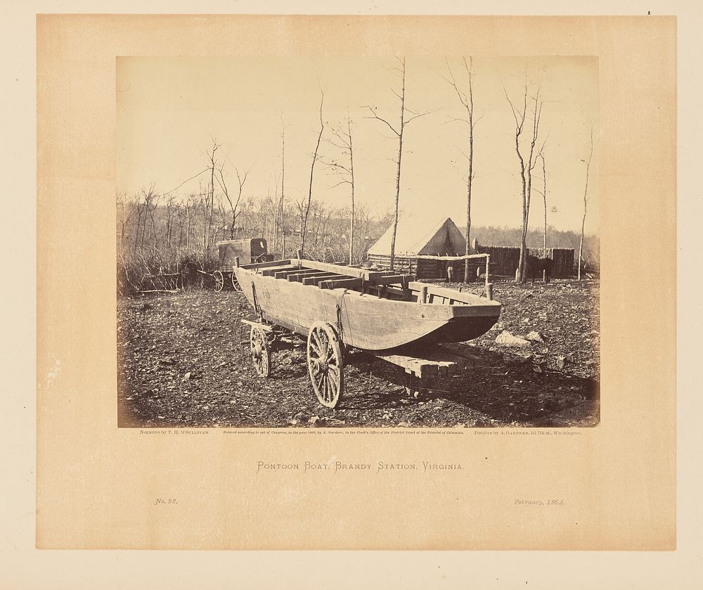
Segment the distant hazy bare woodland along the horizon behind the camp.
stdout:
<svg viewBox="0 0 703 590">
<path fill-rule="evenodd" d="M 212 193 L 210 195 L 212 197 Z M 151 274 L 179 272 L 183 263 L 195 263 L 203 271 L 217 269 L 216 243 L 240 238 L 265 238 L 269 252 L 279 257 L 295 255 L 300 243 L 303 209 L 301 203 L 267 198 L 242 199 L 236 215 L 221 198 L 208 198 L 207 191 L 190 195 L 159 195 L 153 189 L 134 198 L 117 196 L 118 278 L 134 290 Z M 392 223 L 392 214 L 373 216 L 368 207 L 357 204 L 354 220 L 354 259 L 366 260 L 366 253 Z M 349 257 L 351 210 L 330 207 L 313 200 L 307 224 L 304 255 L 325 262 L 347 261 Z M 484 245 L 520 245 L 520 228 L 472 226 L 471 238 Z M 530 231 L 527 245 L 539 248 L 542 233 Z M 579 234 L 550 229 L 550 248 L 574 248 Z M 598 268 L 599 241 L 587 236 L 584 259 Z"/>
</svg>

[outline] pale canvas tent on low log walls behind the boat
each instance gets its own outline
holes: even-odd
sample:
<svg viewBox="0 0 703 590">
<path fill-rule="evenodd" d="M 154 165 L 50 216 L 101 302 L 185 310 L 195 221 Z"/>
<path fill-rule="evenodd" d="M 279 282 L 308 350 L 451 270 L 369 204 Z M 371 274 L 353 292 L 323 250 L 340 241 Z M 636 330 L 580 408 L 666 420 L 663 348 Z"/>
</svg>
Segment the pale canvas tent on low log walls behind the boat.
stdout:
<svg viewBox="0 0 703 590">
<path fill-rule="evenodd" d="M 368 259 L 382 268 L 390 267 L 393 226 L 368 250 Z M 418 258 L 420 255 L 458 256 L 465 254 L 466 241 L 450 217 L 427 219 L 403 215 L 396 231 L 394 270 L 417 278 L 445 278 L 447 262 Z M 475 254 L 470 248 L 470 254 Z M 463 262 L 454 264 L 455 276 L 463 275 Z"/>
</svg>

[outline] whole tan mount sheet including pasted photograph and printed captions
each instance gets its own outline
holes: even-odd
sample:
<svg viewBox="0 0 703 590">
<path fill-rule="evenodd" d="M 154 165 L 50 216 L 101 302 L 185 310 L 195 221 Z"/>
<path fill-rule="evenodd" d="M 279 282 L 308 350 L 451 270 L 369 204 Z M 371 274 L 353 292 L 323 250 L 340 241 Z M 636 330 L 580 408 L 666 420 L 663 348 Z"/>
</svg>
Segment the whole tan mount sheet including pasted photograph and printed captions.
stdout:
<svg viewBox="0 0 703 590">
<path fill-rule="evenodd" d="M 675 20 L 37 39 L 38 547 L 676 546 Z"/>
</svg>

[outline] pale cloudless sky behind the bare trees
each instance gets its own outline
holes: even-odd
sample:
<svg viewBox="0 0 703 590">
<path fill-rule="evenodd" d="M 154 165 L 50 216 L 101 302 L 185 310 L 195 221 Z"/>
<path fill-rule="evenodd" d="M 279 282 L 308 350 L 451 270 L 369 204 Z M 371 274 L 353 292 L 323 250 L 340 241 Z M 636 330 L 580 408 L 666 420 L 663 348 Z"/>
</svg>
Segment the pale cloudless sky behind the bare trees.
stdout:
<svg viewBox="0 0 703 590">
<path fill-rule="evenodd" d="M 474 58 L 475 124 L 472 224 L 521 224 L 520 169 L 515 153 L 513 103 L 522 105 L 524 79 L 541 88 L 544 105 L 540 139 L 545 148 L 548 223 L 580 231 L 583 189 L 593 127 L 593 160 L 588 181 L 586 233 L 598 233 L 598 59 L 592 57 Z M 458 84 L 467 89 L 460 57 L 450 57 Z M 128 195 L 155 184 L 170 191 L 207 167 L 212 139 L 235 183 L 233 166 L 251 169 L 244 196 L 266 195 L 280 175 L 281 116 L 285 120 L 285 195 L 307 199 L 310 164 L 319 132 L 320 91 L 323 120 L 338 125 L 352 117 L 356 199 L 383 214 L 393 207 L 397 140 L 381 122 L 366 118 L 363 105 L 397 127 L 399 101 L 392 89 L 400 79 L 390 68 L 395 58 L 118 58 L 117 189 Z M 452 217 L 465 225 L 467 126 L 451 122 L 465 110 L 437 57 L 406 59 L 406 108 L 435 111 L 407 125 L 401 178 L 401 210 Z M 531 132 L 528 120 L 524 136 Z M 332 138 L 325 129 L 325 136 Z M 527 141 L 527 137 L 525 137 Z M 322 143 L 321 155 L 339 158 Z M 534 170 L 541 190 L 541 162 Z M 200 177 L 203 183 L 207 174 Z M 198 191 L 198 179 L 179 193 Z M 317 165 L 313 198 L 335 207 L 349 204 L 347 185 Z M 543 224 L 541 195 L 533 193 L 530 226 Z"/>
</svg>

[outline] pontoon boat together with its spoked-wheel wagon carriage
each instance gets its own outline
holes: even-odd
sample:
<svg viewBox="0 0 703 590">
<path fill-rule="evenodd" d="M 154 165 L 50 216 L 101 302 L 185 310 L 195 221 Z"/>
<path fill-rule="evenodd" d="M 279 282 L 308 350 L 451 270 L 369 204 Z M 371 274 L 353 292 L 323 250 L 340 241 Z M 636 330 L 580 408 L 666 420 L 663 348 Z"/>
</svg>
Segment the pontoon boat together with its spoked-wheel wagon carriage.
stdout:
<svg viewBox="0 0 703 590">
<path fill-rule="evenodd" d="M 404 368 L 420 385 L 475 366 L 441 348 L 486 333 L 501 304 L 492 298 L 419 283 L 406 274 L 306 259 L 238 264 L 234 274 L 257 313 L 250 349 L 257 373 L 268 377 L 271 354 L 307 345 L 307 366 L 318 401 L 333 408 L 344 392 L 344 352 L 359 349 Z"/>
</svg>

